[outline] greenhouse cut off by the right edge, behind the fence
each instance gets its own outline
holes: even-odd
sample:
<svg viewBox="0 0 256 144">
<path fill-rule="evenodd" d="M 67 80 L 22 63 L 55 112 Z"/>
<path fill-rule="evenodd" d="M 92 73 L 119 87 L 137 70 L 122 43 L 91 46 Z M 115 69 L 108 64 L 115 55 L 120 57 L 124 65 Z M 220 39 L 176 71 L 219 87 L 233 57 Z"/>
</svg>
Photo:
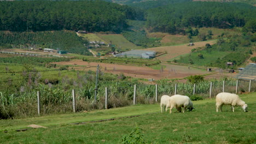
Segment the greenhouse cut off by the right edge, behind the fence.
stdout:
<svg viewBox="0 0 256 144">
<path fill-rule="evenodd" d="M 236 75 L 236 79 L 240 79 L 240 80 L 252 80 L 252 81 L 256 81 L 256 64 L 255 63 L 250 63 L 249 65 L 247 65 L 245 67 L 245 69 L 243 69 L 242 71 L 240 71 L 239 74 Z"/>
</svg>

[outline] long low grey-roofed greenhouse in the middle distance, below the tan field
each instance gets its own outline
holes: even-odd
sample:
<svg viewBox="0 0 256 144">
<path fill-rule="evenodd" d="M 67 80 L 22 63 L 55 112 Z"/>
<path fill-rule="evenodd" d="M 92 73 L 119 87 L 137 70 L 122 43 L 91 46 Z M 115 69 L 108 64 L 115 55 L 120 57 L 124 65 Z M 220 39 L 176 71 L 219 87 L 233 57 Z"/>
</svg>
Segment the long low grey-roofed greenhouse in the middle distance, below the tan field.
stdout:
<svg viewBox="0 0 256 144">
<path fill-rule="evenodd" d="M 131 50 L 122 52 L 115 56 L 117 57 L 134 57 L 134 58 L 154 58 L 156 55 L 155 51 L 143 51 L 143 50 Z"/>
</svg>

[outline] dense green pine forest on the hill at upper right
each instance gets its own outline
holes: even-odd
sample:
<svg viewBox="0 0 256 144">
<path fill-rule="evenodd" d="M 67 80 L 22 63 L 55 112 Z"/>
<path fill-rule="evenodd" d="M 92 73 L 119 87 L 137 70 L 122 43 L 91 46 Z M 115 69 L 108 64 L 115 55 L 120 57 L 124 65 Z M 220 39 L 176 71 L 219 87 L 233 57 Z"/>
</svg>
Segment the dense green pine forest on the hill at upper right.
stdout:
<svg viewBox="0 0 256 144">
<path fill-rule="evenodd" d="M 152 32 L 185 33 L 186 27 L 243 27 L 255 21 L 256 8 L 242 3 L 185 2 L 149 9 L 146 26 Z M 252 27 L 252 26 L 249 26 Z"/>
</svg>

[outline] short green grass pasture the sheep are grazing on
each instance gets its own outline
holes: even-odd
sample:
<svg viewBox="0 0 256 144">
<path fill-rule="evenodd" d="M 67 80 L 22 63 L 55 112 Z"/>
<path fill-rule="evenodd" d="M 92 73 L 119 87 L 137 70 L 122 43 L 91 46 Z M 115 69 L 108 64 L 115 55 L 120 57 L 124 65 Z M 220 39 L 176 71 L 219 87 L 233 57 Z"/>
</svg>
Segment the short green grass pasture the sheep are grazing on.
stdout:
<svg viewBox="0 0 256 144">
<path fill-rule="evenodd" d="M 144 140 L 148 143 L 255 143 L 256 93 L 240 97 L 248 104 L 249 112 L 243 112 L 241 107 L 231 112 L 230 106 L 224 106 L 223 112 L 217 113 L 214 99 L 206 99 L 193 101 L 195 110 L 185 113 L 176 110 L 172 114 L 160 113 L 159 104 L 155 104 L 27 119 L 2 119 L 1 131 L 10 131 L 0 135 L 0 143 L 121 143 L 122 137 L 130 134 L 135 127 L 143 129 Z M 133 115 L 141 116 L 69 124 Z M 48 128 L 14 131 L 26 128 L 28 124 Z"/>
</svg>

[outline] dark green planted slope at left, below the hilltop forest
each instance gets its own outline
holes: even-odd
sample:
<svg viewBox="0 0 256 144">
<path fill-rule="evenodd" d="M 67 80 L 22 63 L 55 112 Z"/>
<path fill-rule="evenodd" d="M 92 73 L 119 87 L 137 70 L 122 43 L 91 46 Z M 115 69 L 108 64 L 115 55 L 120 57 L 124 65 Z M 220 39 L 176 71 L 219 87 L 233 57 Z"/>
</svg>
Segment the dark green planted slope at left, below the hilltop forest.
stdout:
<svg viewBox="0 0 256 144">
<path fill-rule="evenodd" d="M 42 47 L 91 55 L 84 46 L 88 41 L 72 31 L 0 32 L 0 48 Z"/>
</svg>

